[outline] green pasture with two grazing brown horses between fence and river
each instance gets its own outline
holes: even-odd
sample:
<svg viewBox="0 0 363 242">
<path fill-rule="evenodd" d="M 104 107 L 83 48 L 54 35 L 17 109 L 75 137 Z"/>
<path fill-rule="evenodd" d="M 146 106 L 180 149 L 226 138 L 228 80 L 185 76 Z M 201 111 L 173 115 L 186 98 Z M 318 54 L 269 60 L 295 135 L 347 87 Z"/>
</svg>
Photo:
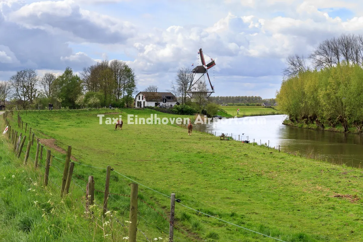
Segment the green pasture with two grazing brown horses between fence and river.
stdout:
<svg viewBox="0 0 363 242">
<path fill-rule="evenodd" d="M 80 163 L 111 165 L 161 193 L 176 193 L 182 201 L 176 203 L 176 225 L 195 241 L 274 240 L 181 204 L 283 241 L 360 241 L 363 236 L 361 170 L 220 141 L 199 132 L 188 136 L 187 130 L 173 125 L 131 125 L 124 118 L 123 130 L 114 131 L 114 125 L 99 124 L 96 115 L 101 112 L 108 111 L 23 112 L 21 116 L 39 138 L 54 138 L 62 149 L 72 145 L 72 155 Z M 126 113 L 150 117 L 154 111 L 124 110 L 123 116 Z M 84 179 L 94 175 L 96 188 L 103 189 L 104 170 L 76 164 L 74 172 Z M 114 172 L 111 175 L 111 192 L 129 193 L 130 181 Z M 139 197 L 168 215 L 169 198 L 143 186 L 139 186 Z M 102 198 L 103 194 L 97 194 L 98 201 Z M 109 206 L 127 207 L 128 198 L 117 197 Z M 162 234 L 155 225 L 168 231 L 168 223 L 143 204 L 140 216 L 153 223 L 140 222 L 150 237 Z M 183 241 L 191 241 L 176 233 Z"/>
</svg>

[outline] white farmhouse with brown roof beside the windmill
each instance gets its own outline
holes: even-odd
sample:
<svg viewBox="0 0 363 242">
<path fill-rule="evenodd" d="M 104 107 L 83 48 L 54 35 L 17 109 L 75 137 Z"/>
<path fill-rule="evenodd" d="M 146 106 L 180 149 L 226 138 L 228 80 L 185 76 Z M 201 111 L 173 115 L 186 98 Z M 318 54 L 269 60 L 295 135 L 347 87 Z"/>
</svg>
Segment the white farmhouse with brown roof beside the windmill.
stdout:
<svg viewBox="0 0 363 242">
<path fill-rule="evenodd" d="M 174 107 L 176 97 L 172 93 L 140 91 L 135 97 L 135 107 Z"/>
</svg>

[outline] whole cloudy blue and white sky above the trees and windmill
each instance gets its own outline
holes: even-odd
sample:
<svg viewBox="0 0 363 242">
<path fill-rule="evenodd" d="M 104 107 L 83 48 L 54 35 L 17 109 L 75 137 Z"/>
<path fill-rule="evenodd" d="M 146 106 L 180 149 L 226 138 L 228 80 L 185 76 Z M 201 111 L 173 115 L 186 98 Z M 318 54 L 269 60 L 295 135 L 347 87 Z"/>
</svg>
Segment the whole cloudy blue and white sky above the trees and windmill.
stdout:
<svg viewBox="0 0 363 242">
<path fill-rule="evenodd" d="M 166 91 L 202 48 L 213 96 L 274 98 L 287 56 L 362 29 L 360 0 L 0 0 L 0 81 L 118 59 Z"/>
</svg>

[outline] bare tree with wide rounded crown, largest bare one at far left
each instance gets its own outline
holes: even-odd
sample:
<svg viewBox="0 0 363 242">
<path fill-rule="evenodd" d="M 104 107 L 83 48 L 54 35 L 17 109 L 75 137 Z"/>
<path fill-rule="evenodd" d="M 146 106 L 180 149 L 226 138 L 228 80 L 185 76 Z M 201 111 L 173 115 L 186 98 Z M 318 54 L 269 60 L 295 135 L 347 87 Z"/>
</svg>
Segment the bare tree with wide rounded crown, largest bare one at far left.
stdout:
<svg viewBox="0 0 363 242">
<path fill-rule="evenodd" d="M 22 101 L 23 108 L 32 104 L 36 98 L 38 81 L 39 77 L 33 69 L 17 71 L 15 75 L 10 77 L 9 83 L 13 89 L 14 98 Z"/>
</svg>

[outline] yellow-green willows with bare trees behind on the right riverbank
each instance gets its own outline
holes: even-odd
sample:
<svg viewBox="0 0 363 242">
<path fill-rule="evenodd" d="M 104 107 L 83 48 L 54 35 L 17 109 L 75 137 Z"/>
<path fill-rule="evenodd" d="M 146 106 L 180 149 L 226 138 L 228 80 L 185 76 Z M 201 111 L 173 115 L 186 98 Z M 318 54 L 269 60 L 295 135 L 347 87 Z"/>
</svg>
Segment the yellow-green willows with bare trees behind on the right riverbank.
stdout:
<svg viewBox="0 0 363 242">
<path fill-rule="evenodd" d="M 287 59 L 276 98 L 295 123 L 318 128 L 363 128 L 363 37 L 342 34 L 318 45 L 307 59 Z"/>
</svg>

